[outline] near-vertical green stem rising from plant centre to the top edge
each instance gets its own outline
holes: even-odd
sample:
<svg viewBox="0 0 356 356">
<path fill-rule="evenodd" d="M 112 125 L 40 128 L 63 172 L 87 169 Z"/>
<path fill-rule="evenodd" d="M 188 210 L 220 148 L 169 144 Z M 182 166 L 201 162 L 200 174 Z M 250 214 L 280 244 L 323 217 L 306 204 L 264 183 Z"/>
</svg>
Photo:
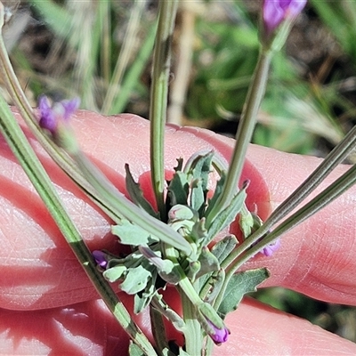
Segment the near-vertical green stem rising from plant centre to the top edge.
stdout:
<svg viewBox="0 0 356 356">
<path fill-rule="evenodd" d="M 150 169 L 153 191 L 161 219 L 166 218 L 164 200 L 164 130 L 171 61 L 171 42 L 177 5 L 178 0 L 161 0 L 159 2 L 158 32 L 153 53 L 152 86 L 150 91 Z"/>
</svg>

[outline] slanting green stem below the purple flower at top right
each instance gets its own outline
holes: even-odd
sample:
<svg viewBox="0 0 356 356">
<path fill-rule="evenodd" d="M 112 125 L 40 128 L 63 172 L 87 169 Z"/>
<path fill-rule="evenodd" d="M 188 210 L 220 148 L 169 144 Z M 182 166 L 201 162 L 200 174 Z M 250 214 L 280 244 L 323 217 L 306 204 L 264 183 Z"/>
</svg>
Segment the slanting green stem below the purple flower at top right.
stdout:
<svg viewBox="0 0 356 356">
<path fill-rule="evenodd" d="M 248 143 L 251 141 L 255 129 L 256 117 L 260 108 L 268 79 L 268 70 L 271 63 L 271 52 L 261 51 L 260 57 L 255 69 L 255 75 L 247 93 L 245 109 L 239 122 L 238 132 L 236 134 L 235 148 L 231 158 L 230 168 L 223 187 L 222 195 L 216 202 L 216 205 L 206 218 L 206 226 L 213 223 L 214 218 L 225 206 L 230 204 L 231 199 L 236 194 L 238 183 L 245 162 Z"/>
</svg>

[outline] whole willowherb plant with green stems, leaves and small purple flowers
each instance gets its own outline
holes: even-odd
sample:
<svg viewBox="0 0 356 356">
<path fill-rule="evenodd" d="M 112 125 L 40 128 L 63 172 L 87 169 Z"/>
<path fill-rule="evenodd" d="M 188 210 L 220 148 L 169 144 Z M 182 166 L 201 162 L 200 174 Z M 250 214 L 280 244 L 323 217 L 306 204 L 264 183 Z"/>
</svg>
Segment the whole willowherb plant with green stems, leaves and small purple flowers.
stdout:
<svg viewBox="0 0 356 356">
<path fill-rule="evenodd" d="M 261 51 L 236 135 L 230 166 L 214 151 L 197 152 L 186 162 L 177 158 L 174 175 L 165 182 L 164 125 L 178 0 L 160 1 L 158 31 L 153 56 L 150 101 L 150 162 L 155 201 L 143 196 L 134 182 L 129 162 L 125 166 L 126 190 L 130 200 L 101 174 L 80 150 L 70 117 L 79 99 L 51 103 L 39 99 L 38 111 L 31 109 L 15 76 L 4 41 L 0 39 L 0 70 L 12 100 L 38 142 L 61 168 L 115 223 L 112 233 L 130 253 L 89 251 L 75 224 L 62 206 L 53 185 L 4 99 L 0 97 L 0 129 L 37 192 L 53 215 L 69 246 L 77 255 L 93 286 L 108 305 L 117 322 L 133 340 L 130 355 L 210 355 L 214 344 L 228 340 L 225 316 L 238 308 L 243 296 L 255 291 L 269 277 L 266 268 L 238 271 L 256 254 L 269 256 L 283 242 L 280 236 L 337 198 L 355 182 L 355 167 L 322 191 L 308 204 L 284 219 L 354 148 L 356 129 L 346 135 L 328 158 L 265 221 L 247 210 L 248 181 L 240 182 L 247 145 L 263 100 L 271 58 L 285 43 L 296 16 L 306 0 L 265 0 L 261 19 Z M 1 4 L 1 3 L 0 3 Z M 4 7 L 1 4 L 1 27 Z M 220 176 L 214 192 L 209 175 Z M 239 187 L 239 189 L 238 189 Z M 157 208 L 156 208 L 157 206 Z M 242 240 L 228 235 L 212 241 L 235 219 L 239 219 Z M 137 327 L 130 313 L 111 289 L 134 295 L 134 313 L 150 308 L 155 343 Z M 174 312 L 161 290 L 174 286 L 181 297 L 182 314 Z M 183 344 L 166 339 L 163 319 L 184 336 Z"/>
</svg>

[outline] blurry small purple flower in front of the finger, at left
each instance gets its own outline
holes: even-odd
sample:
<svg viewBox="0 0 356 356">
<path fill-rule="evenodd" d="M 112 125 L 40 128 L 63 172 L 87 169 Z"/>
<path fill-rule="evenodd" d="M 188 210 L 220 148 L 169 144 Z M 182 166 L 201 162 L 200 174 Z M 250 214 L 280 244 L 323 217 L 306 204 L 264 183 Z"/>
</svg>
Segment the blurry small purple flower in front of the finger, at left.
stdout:
<svg viewBox="0 0 356 356">
<path fill-rule="evenodd" d="M 74 98 L 70 101 L 56 102 L 51 106 L 48 98 L 42 95 L 38 101 L 39 125 L 50 131 L 51 134 L 56 134 L 58 125 L 67 122 L 69 117 L 77 110 L 79 104 L 79 98 Z"/>
</svg>

